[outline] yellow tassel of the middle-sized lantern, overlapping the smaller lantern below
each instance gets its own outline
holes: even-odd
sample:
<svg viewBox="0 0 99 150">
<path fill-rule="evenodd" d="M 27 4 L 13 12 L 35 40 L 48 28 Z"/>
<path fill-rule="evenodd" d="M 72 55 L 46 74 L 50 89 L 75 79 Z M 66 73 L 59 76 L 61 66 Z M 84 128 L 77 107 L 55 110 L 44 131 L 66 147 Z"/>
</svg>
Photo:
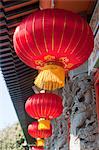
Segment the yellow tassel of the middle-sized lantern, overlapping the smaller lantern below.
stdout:
<svg viewBox="0 0 99 150">
<path fill-rule="evenodd" d="M 50 120 L 39 119 L 38 130 L 50 130 Z"/>
</svg>

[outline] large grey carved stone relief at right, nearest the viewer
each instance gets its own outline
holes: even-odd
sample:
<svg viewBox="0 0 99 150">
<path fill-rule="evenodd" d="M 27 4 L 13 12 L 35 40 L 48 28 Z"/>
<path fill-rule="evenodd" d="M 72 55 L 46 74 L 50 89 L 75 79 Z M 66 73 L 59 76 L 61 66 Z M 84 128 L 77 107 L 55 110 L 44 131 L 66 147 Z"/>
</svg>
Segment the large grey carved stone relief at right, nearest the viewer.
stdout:
<svg viewBox="0 0 99 150">
<path fill-rule="evenodd" d="M 80 140 L 79 150 L 98 150 L 96 104 L 92 77 L 78 76 L 63 89 L 64 114 L 70 114 L 71 135 Z M 71 144 L 72 145 L 72 144 Z M 72 146 L 70 148 L 72 149 Z"/>
</svg>

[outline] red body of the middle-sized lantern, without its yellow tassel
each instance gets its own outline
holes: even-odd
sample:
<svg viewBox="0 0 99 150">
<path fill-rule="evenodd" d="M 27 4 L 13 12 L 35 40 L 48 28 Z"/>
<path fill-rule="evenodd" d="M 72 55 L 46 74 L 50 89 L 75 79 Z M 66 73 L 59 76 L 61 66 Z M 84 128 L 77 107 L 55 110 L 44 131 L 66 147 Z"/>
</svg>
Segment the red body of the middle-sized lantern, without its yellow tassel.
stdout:
<svg viewBox="0 0 99 150">
<path fill-rule="evenodd" d="M 62 113 L 62 99 L 52 93 L 34 94 L 28 98 L 25 109 L 35 119 L 54 119 Z"/>
</svg>

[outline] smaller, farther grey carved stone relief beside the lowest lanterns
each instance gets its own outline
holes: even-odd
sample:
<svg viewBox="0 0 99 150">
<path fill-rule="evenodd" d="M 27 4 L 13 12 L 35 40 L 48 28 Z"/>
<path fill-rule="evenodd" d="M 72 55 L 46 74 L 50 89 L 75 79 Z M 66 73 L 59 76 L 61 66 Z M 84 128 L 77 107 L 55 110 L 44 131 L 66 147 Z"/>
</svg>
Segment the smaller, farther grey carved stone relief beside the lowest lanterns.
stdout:
<svg viewBox="0 0 99 150">
<path fill-rule="evenodd" d="M 68 150 L 67 120 L 64 115 L 52 121 L 53 134 L 46 140 L 48 150 Z"/>
</svg>

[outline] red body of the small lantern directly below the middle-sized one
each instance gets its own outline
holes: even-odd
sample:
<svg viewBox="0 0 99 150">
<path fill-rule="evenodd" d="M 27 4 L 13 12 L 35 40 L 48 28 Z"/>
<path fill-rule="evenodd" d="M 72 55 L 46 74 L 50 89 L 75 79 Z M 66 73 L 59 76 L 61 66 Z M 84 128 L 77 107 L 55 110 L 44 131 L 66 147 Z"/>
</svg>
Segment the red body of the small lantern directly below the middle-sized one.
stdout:
<svg viewBox="0 0 99 150">
<path fill-rule="evenodd" d="M 52 126 L 50 130 L 38 130 L 38 122 L 33 122 L 28 126 L 28 133 L 33 138 L 48 138 L 52 135 Z"/>
</svg>

